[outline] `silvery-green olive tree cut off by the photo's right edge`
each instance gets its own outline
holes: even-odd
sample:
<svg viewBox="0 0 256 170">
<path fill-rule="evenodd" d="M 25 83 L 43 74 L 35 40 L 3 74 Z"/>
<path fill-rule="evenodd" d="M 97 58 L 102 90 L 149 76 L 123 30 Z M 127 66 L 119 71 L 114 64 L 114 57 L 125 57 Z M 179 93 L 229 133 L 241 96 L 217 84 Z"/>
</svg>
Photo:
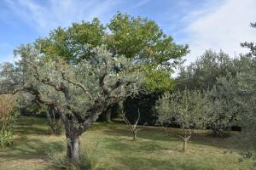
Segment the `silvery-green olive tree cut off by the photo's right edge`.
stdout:
<svg viewBox="0 0 256 170">
<path fill-rule="evenodd" d="M 256 28 L 256 23 L 251 23 L 253 28 Z M 241 47 L 248 48 L 249 53 L 241 54 L 241 66 L 236 77 L 236 83 L 234 80 L 229 80 L 228 84 L 232 87 L 232 91 L 236 94 L 234 101 L 239 108 L 239 121 L 242 125 L 242 138 L 239 138 L 246 144 L 252 144 L 253 150 L 244 150 L 241 152 L 241 158 L 252 159 L 254 166 L 256 166 L 256 45 L 255 42 L 242 42 Z"/>
</svg>

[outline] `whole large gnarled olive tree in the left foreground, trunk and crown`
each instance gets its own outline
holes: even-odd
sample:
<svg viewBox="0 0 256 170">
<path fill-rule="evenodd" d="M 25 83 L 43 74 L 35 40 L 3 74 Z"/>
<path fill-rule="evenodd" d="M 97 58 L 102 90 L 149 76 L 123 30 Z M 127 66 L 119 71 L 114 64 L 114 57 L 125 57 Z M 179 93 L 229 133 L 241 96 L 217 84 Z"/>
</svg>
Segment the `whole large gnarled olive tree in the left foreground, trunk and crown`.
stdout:
<svg viewBox="0 0 256 170">
<path fill-rule="evenodd" d="M 26 92 L 58 111 L 71 161 L 79 160 L 79 136 L 109 105 L 136 94 L 143 80 L 135 59 L 115 58 L 104 46 L 93 50 L 93 58 L 68 65 L 46 60 L 33 45 L 21 46 L 15 50 L 20 61 L 1 69 L 1 94 Z"/>
</svg>

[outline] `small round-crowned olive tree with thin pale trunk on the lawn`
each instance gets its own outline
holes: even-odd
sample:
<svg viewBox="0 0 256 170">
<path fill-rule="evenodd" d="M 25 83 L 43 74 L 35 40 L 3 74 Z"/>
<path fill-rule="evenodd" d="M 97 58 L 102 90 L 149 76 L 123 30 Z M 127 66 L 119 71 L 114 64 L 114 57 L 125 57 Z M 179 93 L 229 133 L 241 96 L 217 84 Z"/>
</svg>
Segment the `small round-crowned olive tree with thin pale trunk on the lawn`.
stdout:
<svg viewBox="0 0 256 170">
<path fill-rule="evenodd" d="M 155 106 L 158 122 L 161 124 L 177 123 L 183 128 L 183 150 L 187 150 L 192 135 L 191 128 L 204 128 L 209 121 L 211 103 L 200 91 L 184 90 L 175 94 L 164 94 Z"/>
</svg>

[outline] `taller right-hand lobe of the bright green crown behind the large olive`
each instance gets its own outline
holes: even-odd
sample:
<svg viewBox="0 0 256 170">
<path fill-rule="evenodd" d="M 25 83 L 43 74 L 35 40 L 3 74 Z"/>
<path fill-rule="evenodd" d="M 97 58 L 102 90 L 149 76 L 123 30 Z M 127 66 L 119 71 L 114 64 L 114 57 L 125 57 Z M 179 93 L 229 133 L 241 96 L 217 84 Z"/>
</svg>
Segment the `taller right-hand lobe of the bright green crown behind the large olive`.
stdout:
<svg viewBox="0 0 256 170">
<path fill-rule="evenodd" d="M 169 59 L 181 59 L 188 47 L 177 45 L 153 20 L 116 14 L 108 24 L 111 34 L 107 44 L 113 54 L 125 54 L 148 64 L 171 65 Z"/>
</svg>

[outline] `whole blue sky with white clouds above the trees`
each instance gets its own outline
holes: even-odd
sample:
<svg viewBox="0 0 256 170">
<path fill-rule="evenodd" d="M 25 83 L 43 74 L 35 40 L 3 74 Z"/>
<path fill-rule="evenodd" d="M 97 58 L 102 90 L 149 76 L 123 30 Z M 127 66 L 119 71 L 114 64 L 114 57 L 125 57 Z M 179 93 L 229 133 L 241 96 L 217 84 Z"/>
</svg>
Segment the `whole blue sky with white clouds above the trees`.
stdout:
<svg viewBox="0 0 256 170">
<path fill-rule="evenodd" d="M 188 43 L 187 63 L 208 48 L 234 56 L 245 52 L 240 42 L 256 41 L 249 27 L 255 8 L 255 0 L 2 0 L 0 62 L 13 61 L 14 48 L 57 26 L 94 17 L 107 23 L 117 11 L 155 20 L 177 43 Z"/>
</svg>

